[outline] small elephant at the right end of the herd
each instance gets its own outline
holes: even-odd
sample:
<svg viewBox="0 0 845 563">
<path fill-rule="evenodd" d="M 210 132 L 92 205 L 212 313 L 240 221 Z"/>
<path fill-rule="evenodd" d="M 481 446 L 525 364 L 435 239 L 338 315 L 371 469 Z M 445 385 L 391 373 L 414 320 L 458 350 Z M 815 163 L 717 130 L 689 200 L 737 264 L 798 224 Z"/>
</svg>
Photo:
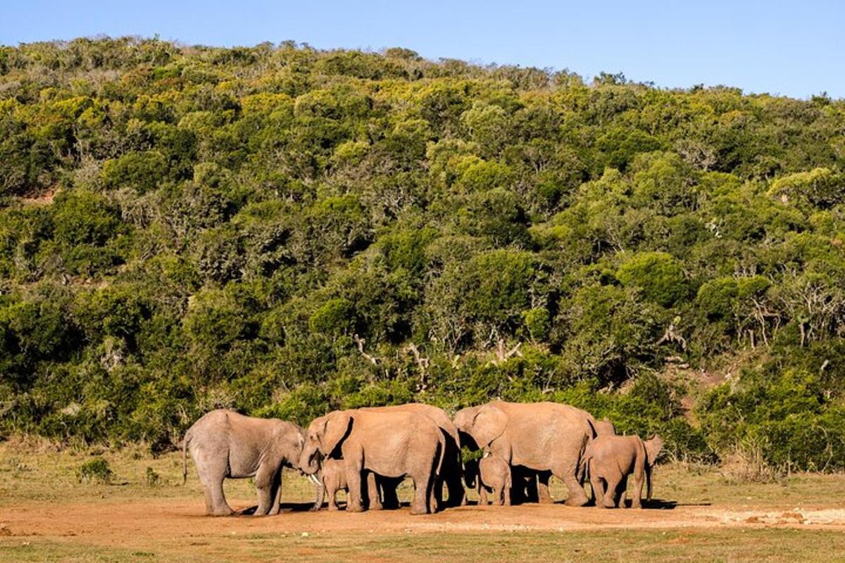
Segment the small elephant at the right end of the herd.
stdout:
<svg viewBox="0 0 845 563">
<path fill-rule="evenodd" d="M 643 441 L 640 436 L 598 436 L 584 452 L 586 472 L 599 508 L 624 506 L 628 477 L 634 475 L 631 507 L 642 508 L 642 485 L 651 501 L 651 467 L 663 446 L 660 436 Z"/>
</svg>

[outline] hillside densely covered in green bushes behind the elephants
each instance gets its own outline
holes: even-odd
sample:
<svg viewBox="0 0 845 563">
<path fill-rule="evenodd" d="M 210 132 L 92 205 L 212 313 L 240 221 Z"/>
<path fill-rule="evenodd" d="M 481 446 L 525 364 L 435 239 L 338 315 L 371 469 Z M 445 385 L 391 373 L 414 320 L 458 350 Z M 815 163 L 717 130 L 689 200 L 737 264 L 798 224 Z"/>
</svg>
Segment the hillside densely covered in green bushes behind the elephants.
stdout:
<svg viewBox="0 0 845 563">
<path fill-rule="evenodd" d="M 401 48 L 0 48 L 0 424 L 551 399 L 845 468 L 843 133 L 826 96 Z"/>
</svg>

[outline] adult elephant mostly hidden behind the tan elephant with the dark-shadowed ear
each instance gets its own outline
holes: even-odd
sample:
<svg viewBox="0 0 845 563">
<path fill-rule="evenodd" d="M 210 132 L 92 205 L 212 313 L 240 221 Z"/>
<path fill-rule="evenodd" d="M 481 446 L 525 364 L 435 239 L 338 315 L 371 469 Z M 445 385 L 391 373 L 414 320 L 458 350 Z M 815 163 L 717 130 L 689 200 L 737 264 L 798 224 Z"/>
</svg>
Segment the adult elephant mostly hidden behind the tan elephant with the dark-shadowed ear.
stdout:
<svg viewBox="0 0 845 563">
<path fill-rule="evenodd" d="M 437 476 L 434 484 L 434 498 L 437 506 L 461 506 L 466 504 L 466 491 L 461 484 L 461 475 L 463 474 L 463 464 L 461 463 L 461 439 L 458 436 L 458 429 L 446 414 L 444 409 L 434 407 L 425 403 L 406 403 L 389 407 L 365 407 L 358 409 L 372 412 L 408 412 L 417 413 L 428 416 L 438 425 L 440 431 L 443 433 L 445 441 L 445 450 L 443 457 L 443 467 Z M 384 506 L 388 508 L 398 507 L 399 501 L 396 498 L 396 486 L 401 483 L 401 480 L 396 479 L 371 479 L 368 487 L 375 488 L 373 480 L 378 482 L 379 488 L 382 490 L 382 499 Z M 446 486 L 448 491 L 448 502 L 443 501 L 443 486 Z M 370 495 L 370 507 L 381 507 L 378 495 Z"/>
</svg>

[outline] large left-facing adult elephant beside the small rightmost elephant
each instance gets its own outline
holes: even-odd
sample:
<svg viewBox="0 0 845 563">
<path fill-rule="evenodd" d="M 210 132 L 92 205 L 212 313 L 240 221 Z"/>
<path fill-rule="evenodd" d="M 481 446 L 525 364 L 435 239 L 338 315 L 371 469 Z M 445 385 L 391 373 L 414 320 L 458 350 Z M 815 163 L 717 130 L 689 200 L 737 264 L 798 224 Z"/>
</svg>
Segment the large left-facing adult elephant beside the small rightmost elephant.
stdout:
<svg viewBox="0 0 845 563">
<path fill-rule="evenodd" d="M 559 403 L 493 401 L 461 409 L 455 414 L 455 426 L 472 438 L 471 447 L 486 447 L 511 466 L 537 471 L 541 502 L 552 501 L 548 478 L 554 475 L 569 490 L 567 506 L 587 503 L 578 468 L 596 430 L 586 411 Z"/>
</svg>

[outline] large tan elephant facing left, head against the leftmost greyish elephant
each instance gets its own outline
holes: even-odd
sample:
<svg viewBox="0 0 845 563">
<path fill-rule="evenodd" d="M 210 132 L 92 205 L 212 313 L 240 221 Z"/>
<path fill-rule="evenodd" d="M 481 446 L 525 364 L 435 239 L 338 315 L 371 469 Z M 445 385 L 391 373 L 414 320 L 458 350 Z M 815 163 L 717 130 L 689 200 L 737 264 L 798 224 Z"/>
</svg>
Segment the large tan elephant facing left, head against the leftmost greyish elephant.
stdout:
<svg viewBox="0 0 845 563">
<path fill-rule="evenodd" d="M 340 458 L 349 494 L 347 512 L 363 511 L 364 472 L 386 478 L 411 477 L 412 514 L 435 510 L 434 483 L 443 465 L 445 439 L 424 414 L 402 410 L 336 410 L 311 421 L 305 432 L 300 467 L 319 470 L 319 457 Z"/>
</svg>

